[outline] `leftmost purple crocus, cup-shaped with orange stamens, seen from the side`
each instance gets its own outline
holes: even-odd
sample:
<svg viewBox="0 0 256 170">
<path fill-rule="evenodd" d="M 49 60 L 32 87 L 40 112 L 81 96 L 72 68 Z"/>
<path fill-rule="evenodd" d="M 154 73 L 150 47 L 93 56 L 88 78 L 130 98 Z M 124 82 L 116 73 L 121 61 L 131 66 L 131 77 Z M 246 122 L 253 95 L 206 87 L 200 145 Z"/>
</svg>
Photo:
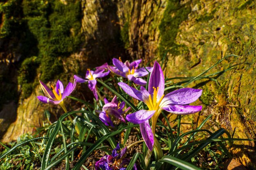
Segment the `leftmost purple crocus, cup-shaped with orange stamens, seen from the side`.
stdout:
<svg viewBox="0 0 256 170">
<path fill-rule="evenodd" d="M 65 90 L 60 80 L 57 81 L 55 88 L 54 86 L 51 86 L 52 90 L 50 90 L 43 82 L 39 82 L 46 96 L 37 96 L 37 98 L 43 103 L 61 104 L 63 99 L 70 95 L 76 87 L 76 79 L 74 79 L 74 84 L 69 82 Z"/>
</svg>

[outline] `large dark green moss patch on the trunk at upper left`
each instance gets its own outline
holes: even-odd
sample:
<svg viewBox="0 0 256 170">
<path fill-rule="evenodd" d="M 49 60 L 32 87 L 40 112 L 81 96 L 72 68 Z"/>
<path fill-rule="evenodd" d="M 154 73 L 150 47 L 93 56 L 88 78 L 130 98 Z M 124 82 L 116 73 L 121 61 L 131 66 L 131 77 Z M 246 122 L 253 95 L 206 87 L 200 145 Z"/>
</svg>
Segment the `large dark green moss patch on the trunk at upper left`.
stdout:
<svg viewBox="0 0 256 170">
<path fill-rule="evenodd" d="M 25 60 L 19 70 L 18 83 L 22 87 L 22 97 L 26 98 L 38 84 L 38 72 L 44 82 L 56 78 L 63 72 L 61 58 L 79 49 L 81 7 L 80 1 L 75 0 L 67 1 L 66 5 L 59 0 L 23 0 L 22 10 L 22 21 L 27 29 L 23 31 L 25 39 L 20 51 Z M 36 63 L 32 55 L 37 56 Z"/>
</svg>

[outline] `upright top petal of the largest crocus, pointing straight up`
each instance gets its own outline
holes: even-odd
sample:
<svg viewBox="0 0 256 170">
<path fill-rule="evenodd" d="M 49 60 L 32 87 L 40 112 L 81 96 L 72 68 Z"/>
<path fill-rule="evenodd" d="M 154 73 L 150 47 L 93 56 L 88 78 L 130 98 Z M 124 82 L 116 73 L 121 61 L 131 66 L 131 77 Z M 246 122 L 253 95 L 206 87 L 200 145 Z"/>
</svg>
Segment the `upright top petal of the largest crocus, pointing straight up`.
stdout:
<svg viewBox="0 0 256 170">
<path fill-rule="evenodd" d="M 154 88 L 158 87 L 157 91 L 157 99 L 160 99 L 164 94 L 164 73 L 162 71 L 161 66 L 155 61 L 153 66 L 153 70 L 150 74 L 149 82 L 148 82 L 148 92 L 152 95 L 154 92 Z"/>
</svg>

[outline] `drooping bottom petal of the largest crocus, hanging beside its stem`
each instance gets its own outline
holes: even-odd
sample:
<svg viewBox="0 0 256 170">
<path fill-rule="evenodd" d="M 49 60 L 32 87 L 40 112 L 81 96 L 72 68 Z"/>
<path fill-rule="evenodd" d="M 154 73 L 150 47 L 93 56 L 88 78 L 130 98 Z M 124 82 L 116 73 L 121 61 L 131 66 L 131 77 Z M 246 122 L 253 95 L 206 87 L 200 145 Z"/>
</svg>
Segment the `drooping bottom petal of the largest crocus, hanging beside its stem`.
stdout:
<svg viewBox="0 0 256 170">
<path fill-rule="evenodd" d="M 139 124 L 139 128 L 141 131 L 141 135 L 146 143 L 146 146 L 148 146 L 149 150 L 153 150 L 154 146 L 154 135 L 150 128 L 148 120 Z"/>
</svg>

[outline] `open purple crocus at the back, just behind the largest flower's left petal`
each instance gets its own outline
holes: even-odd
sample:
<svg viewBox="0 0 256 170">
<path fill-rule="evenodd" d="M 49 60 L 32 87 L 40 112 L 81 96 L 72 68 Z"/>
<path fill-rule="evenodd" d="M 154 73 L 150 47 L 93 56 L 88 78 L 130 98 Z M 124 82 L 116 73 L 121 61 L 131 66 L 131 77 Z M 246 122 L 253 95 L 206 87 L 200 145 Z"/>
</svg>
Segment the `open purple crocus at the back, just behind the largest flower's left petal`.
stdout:
<svg viewBox="0 0 256 170">
<path fill-rule="evenodd" d="M 138 68 L 139 64 L 141 63 L 140 60 L 135 60 L 134 62 L 121 62 L 121 59 L 119 57 L 119 60 L 116 58 L 112 59 L 112 62 L 114 66 L 108 66 L 109 70 L 115 73 L 116 75 L 119 75 L 121 77 L 125 77 L 128 80 L 134 82 L 135 84 L 145 86 L 146 81 L 144 79 L 141 79 L 139 77 L 143 77 L 148 75 L 148 71 L 151 72 L 153 67 L 146 67 L 148 71 L 144 67 Z"/>
</svg>

